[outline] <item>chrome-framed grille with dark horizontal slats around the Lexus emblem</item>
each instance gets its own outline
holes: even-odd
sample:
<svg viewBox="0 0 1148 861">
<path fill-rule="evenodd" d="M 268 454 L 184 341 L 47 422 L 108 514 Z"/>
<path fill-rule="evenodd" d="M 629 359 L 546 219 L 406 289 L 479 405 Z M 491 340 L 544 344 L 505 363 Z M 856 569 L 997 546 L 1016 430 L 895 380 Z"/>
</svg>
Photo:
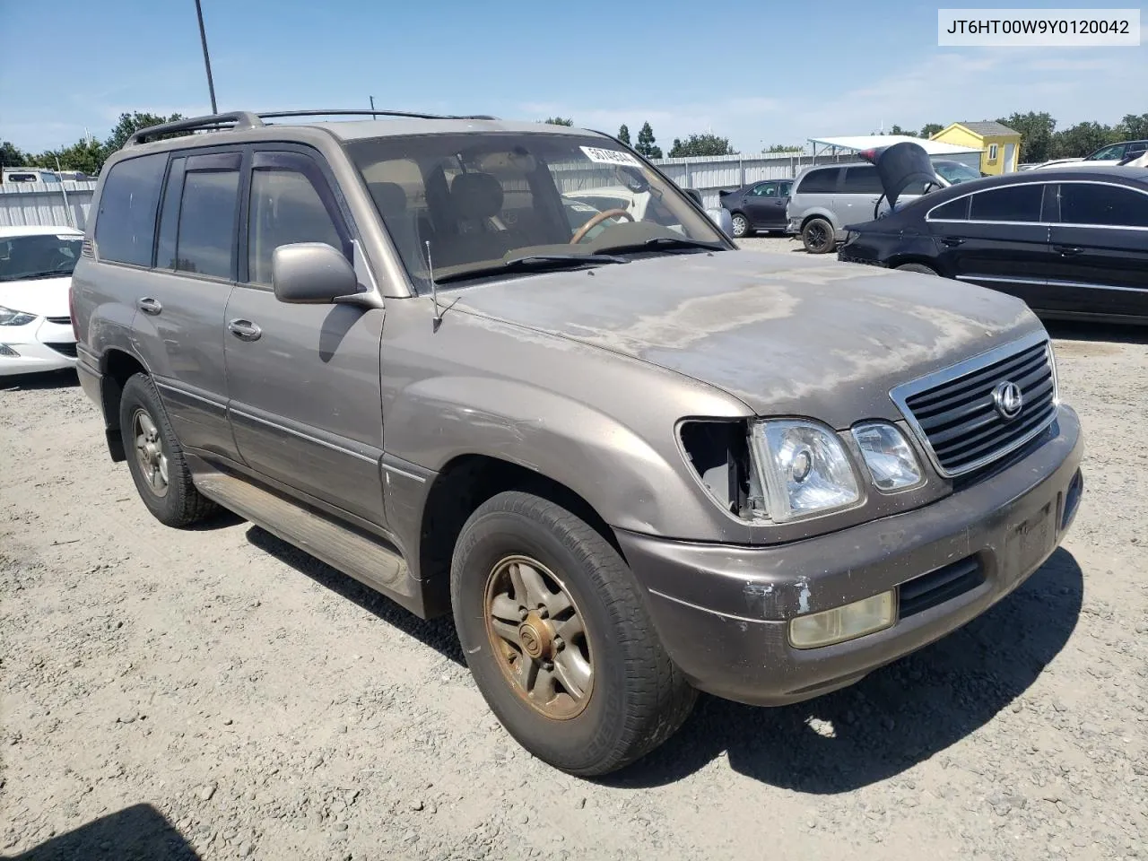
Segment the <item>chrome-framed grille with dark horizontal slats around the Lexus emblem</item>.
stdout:
<svg viewBox="0 0 1148 861">
<path fill-rule="evenodd" d="M 1011 418 L 994 397 L 1006 383 L 1015 383 L 1023 396 Z M 890 395 L 937 470 L 947 478 L 963 475 L 1015 451 L 1052 422 L 1057 401 L 1048 336 L 1034 333 Z"/>
</svg>

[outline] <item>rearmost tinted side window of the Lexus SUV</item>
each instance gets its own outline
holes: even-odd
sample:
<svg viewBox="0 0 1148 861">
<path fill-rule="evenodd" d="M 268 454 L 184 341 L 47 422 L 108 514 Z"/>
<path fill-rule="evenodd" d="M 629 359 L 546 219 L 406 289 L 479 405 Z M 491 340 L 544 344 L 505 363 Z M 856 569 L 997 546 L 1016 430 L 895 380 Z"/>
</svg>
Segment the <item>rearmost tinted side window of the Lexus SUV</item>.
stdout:
<svg viewBox="0 0 1148 861">
<path fill-rule="evenodd" d="M 156 153 L 113 166 L 95 217 L 95 245 L 101 259 L 152 265 L 155 209 L 166 165 L 168 154 Z"/>
</svg>

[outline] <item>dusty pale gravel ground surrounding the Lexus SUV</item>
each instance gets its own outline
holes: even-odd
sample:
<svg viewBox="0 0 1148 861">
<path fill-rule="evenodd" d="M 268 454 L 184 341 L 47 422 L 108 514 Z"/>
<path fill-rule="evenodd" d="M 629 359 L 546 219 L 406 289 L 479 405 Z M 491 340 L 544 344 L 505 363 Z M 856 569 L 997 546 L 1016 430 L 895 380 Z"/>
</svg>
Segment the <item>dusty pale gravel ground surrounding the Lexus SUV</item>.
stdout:
<svg viewBox="0 0 1148 861">
<path fill-rule="evenodd" d="M 851 689 L 776 711 L 703 698 L 600 782 L 521 752 L 449 622 L 235 519 L 161 527 L 73 377 L 5 381 L 0 852 L 1148 856 L 1148 336 L 1054 334 L 1087 489 L 1041 571 Z"/>
</svg>

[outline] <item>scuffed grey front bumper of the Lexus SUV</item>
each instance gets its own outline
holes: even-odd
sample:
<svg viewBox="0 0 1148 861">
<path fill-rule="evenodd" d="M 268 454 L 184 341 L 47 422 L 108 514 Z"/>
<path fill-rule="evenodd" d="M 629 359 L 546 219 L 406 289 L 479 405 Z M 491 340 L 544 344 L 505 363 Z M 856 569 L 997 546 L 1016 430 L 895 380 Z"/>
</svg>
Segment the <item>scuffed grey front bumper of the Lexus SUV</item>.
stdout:
<svg viewBox="0 0 1148 861">
<path fill-rule="evenodd" d="M 1084 443 L 1061 406 L 1026 457 L 923 509 L 774 546 L 618 532 L 658 634 L 699 689 L 752 705 L 825 693 L 984 613 L 1039 568 L 1071 525 Z M 789 620 L 897 589 L 885 630 L 800 650 Z M 931 600 L 930 600 L 931 596 Z"/>
</svg>

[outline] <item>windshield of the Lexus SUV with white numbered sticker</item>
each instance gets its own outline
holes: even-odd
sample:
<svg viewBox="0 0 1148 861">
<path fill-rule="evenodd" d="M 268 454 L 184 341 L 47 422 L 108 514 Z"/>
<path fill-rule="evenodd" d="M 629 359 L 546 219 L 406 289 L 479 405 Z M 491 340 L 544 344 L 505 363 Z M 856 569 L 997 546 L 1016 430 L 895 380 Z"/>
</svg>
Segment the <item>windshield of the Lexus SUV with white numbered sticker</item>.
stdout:
<svg viewBox="0 0 1148 861">
<path fill-rule="evenodd" d="M 529 272 L 515 263 L 525 257 L 553 267 L 600 264 L 614 248 L 728 248 L 680 191 L 602 138 L 427 134 L 351 141 L 347 152 L 420 287 L 428 242 L 435 278 L 448 281 Z"/>
</svg>

